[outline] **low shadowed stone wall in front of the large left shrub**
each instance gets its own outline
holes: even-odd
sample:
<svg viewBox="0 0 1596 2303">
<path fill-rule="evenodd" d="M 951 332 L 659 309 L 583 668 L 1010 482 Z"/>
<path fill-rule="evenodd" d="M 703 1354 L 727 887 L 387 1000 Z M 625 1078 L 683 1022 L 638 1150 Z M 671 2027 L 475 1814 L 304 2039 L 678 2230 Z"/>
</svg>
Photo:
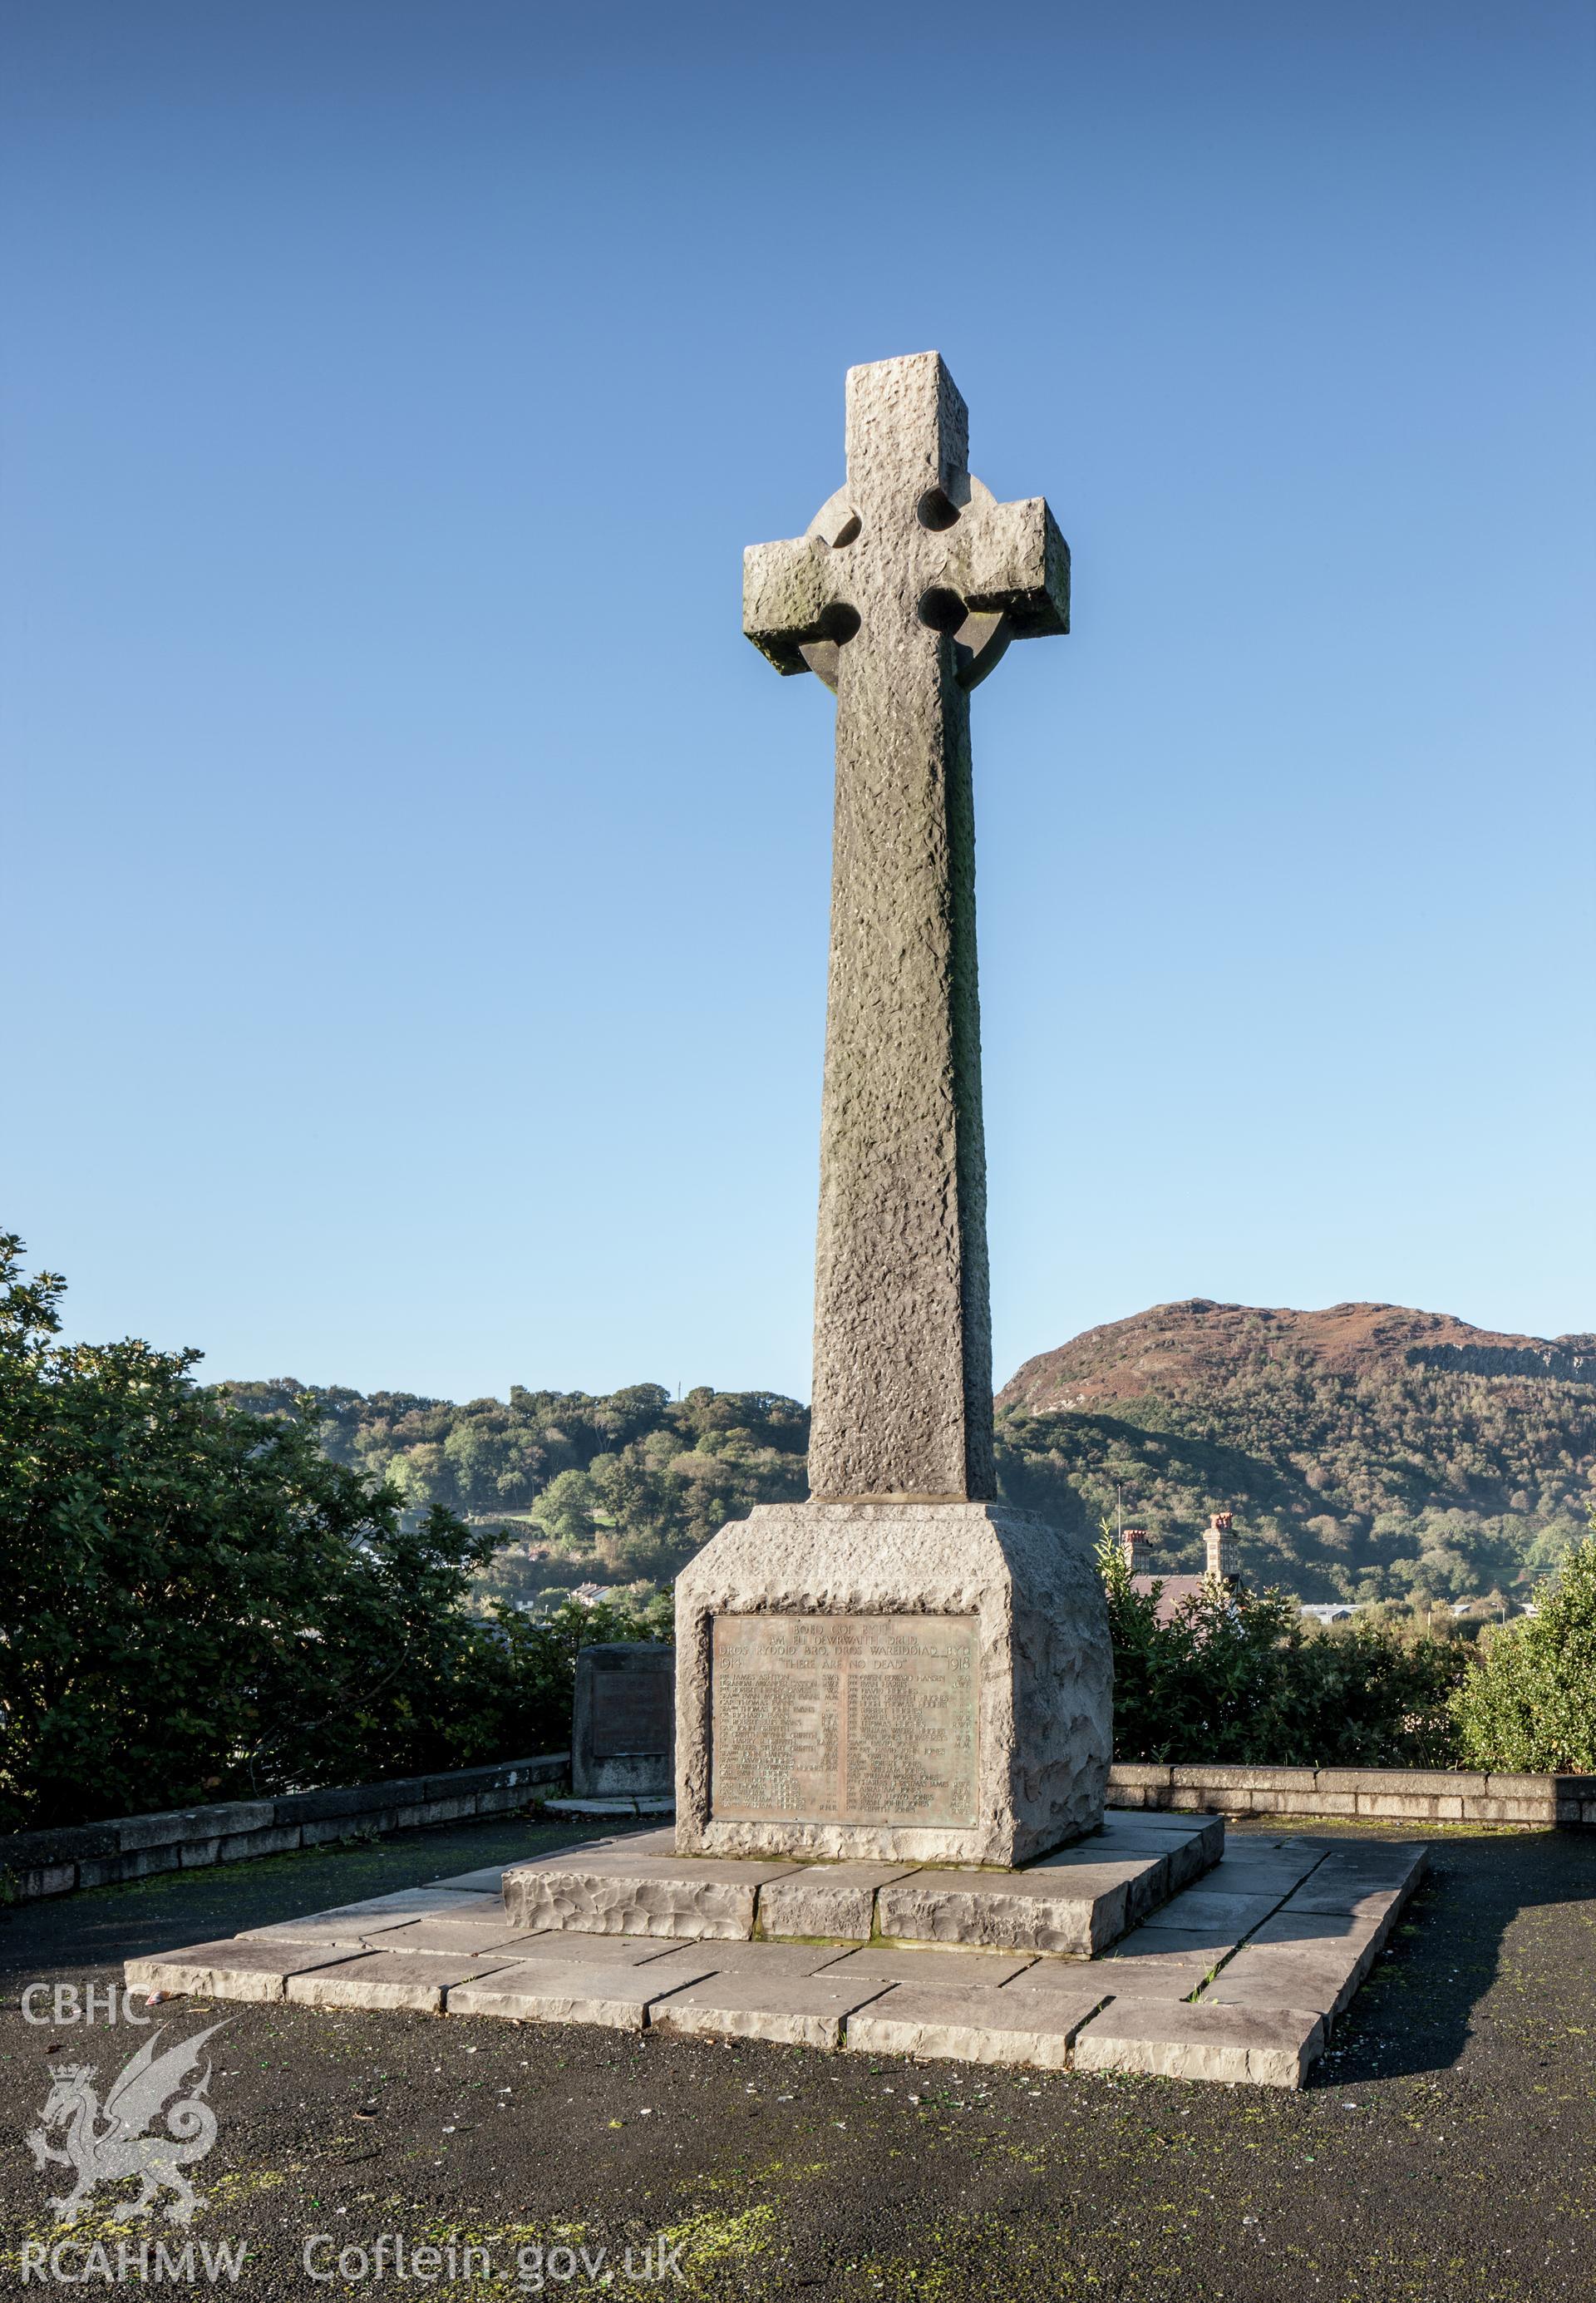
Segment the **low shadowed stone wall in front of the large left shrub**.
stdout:
<svg viewBox="0 0 1596 2303">
<path fill-rule="evenodd" d="M 564 1783 L 569 1769 L 571 1755 L 555 1750 L 541 1759 L 500 1759 L 495 1766 L 461 1766 L 447 1776 L 343 1783 L 327 1792 L 286 1792 L 281 1799 L 230 1799 L 214 1808 L 18 1831 L 0 1838 L 0 1900 L 32 1902 L 39 1895 L 69 1895 L 81 1886 L 145 1879 L 150 1872 L 281 1856 L 325 1840 L 458 1824 L 472 1815 L 511 1815 L 530 1803 L 539 1785 Z"/>
</svg>

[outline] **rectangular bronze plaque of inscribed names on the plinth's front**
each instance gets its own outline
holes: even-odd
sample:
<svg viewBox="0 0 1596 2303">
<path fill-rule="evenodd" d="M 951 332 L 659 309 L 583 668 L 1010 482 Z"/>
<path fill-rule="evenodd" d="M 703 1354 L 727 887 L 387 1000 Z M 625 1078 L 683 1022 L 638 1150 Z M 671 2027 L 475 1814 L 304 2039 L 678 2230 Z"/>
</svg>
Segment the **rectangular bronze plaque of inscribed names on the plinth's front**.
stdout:
<svg viewBox="0 0 1596 2303">
<path fill-rule="evenodd" d="M 716 1614 L 709 1812 L 976 1819 L 972 1614 Z"/>
</svg>

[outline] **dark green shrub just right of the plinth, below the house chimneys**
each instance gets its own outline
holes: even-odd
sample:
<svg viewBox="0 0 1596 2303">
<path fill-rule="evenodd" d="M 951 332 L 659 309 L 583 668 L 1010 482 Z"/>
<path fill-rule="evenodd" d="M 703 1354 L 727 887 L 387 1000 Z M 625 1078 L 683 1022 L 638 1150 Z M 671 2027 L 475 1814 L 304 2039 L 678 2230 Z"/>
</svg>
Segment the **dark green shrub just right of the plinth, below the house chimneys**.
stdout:
<svg viewBox="0 0 1596 2303">
<path fill-rule="evenodd" d="M 1158 1621 L 1119 1545 L 1099 1564 L 1115 1642 L 1115 1759 L 1446 1766 L 1465 1649 L 1382 1624 L 1308 1628 L 1285 1591 L 1207 1584 Z"/>
</svg>

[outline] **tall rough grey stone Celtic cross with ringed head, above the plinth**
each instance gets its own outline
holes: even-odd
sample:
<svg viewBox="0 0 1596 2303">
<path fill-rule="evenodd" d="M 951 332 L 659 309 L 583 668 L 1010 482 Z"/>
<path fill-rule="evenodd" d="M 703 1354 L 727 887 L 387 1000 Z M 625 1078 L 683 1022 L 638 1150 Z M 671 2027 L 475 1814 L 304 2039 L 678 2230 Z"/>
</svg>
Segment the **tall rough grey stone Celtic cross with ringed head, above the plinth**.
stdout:
<svg viewBox="0 0 1596 2303">
<path fill-rule="evenodd" d="M 970 689 L 1069 631 L 1069 548 L 972 479 L 937 352 L 848 373 L 848 484 L 748 548 L 744 631 L 836 689 L 811 1495 L 990 1499 Z"/>
</svg>

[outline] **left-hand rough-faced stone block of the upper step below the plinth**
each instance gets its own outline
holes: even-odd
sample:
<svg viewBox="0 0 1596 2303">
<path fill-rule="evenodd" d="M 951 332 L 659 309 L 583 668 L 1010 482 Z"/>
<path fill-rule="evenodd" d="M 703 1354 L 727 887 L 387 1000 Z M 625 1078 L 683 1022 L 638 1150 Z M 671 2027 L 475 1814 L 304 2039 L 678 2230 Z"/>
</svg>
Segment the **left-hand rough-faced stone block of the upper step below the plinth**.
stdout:
<svg viewBox="0 0 1596 2303">
<path fill-rule="evenodd" d="M 728 1856 L 573 1849 L 546 1863 L 511 1865 L 504 1872 L 504 1911 L 511 1928 L 748 1941 L 760 1888 L 790 1879 L 797 1868 Z"/>
</svg>

